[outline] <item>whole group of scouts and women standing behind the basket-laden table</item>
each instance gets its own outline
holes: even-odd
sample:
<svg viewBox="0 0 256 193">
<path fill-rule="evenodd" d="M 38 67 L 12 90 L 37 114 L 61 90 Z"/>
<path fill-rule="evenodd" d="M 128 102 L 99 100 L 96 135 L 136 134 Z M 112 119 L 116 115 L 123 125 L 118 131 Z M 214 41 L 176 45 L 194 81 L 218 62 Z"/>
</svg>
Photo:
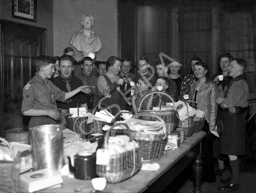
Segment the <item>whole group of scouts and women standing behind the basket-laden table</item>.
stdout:
<svg viewBox="0 0 256 193">
<path fill-rule="evenodd" d="M 145 98 L 141 109 L 152 109 L 167 102 L 178 101 L 184 94 L 189 94 L 190 100 L 199 102 L 206 113 L 206 122 L 202 130 L 209 133 L 215 130 L 215 125 L 223 122 L 223 134 L 219 145 L 215 145 L 217 154 L 226 154 L 230 160 L 232 178 L 222 180 L 227 184 L 219 190 L 239 188 L 238 155 L 245 154 L 245 129 L 242 119 L 243 108 L 248 103 L 248 85 L 244 72 L 245 60 L 235 58 L 230 54 L 222 54 L 219 64 L 222 71 L 209 78 L 209 68 L 199 57 L 191 59 L 193 73 L 184 76 L 178 74 L 181 64 L 178 60 L 168 63 L 159 61 L 153 68 L 146 56 L 138 61 L 138 75 L 130 72 L 132 61 L 129 58 L 120 59 L 110 56 L 107 62 L 95 65 L 96 59 L 89 56 L 81 60 L 81 75 L 72 75 L 74 70 L 74 51 L 66 48 L 61 57 L 37 56 L 34 64 L 37 68 L 35 76 L 24 86 L 21 113 L 32 116 L 29 128 L 44 124 L 57 124 L 64 121 L 61 110 L 77 107 L 90 109 L 98 104 L 105 104 L 116 117 L 120 110 L 129 110 L 136 114 L 141 100 L 147 94 L 159 91 L 169 97 L 157 93 Z M 170 70 L 170 74 L 168 74 Z M 219 80 L 217 75 L 223 74 Z M 134 82 L 134 95 L 126 98 L 121 93 L 120 85 Z M 81 91 L 81 92 L 80 92 Z M 197 108 L 201 108 L 197 106 Z M 216 121 L 217 120 L 217 121 Z M 213 165 L 213 137 L 207 135 L 202 141 L 203 175 L 202 181 L 215 182 Z M 219 177 L 224 171 L 224 164 L 219 157 Z"/>
</svg>

